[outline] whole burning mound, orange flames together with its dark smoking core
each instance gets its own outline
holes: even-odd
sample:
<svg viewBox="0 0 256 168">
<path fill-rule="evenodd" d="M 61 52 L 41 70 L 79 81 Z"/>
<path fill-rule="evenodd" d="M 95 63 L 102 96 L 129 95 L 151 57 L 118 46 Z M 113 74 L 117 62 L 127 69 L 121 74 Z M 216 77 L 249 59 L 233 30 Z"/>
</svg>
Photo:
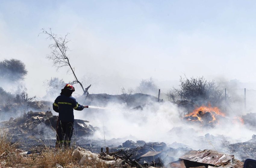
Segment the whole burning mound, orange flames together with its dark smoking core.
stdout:
<svg viewBox="0 0 256 168">
<path fill-rule="evenodd" d="M 211 107 L 209 104 L 208 106 L 203 105 L 195 108 L 192 113 L 185 116 L 185 119 L 189 121 L 200 121 L 202 123 L 212 123 L 216 120 L 217 116 L 225 117 L 225 114 L 221 113 L 218 107 Z"/>
</svg>

